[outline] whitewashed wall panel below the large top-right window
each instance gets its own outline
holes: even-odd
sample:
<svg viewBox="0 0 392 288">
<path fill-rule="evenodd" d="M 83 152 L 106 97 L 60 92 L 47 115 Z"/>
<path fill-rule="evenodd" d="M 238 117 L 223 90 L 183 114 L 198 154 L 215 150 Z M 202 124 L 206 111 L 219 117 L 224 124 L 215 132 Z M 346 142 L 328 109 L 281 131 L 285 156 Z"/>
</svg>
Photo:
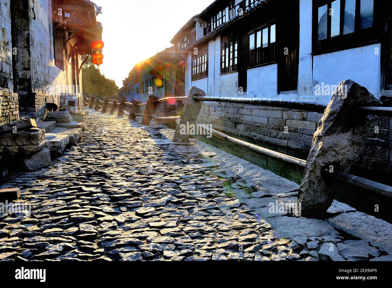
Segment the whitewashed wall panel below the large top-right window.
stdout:
<svg viewBox="0 0 392 288">
<path fill-rule="evenodd" d="M 378 51 L 378 54 L 375 53 Z M 322 84 L 338 85 L 347 79 L 366 87 L 376 98 L 380 98 L 381 44 L 337 51 L 313 57 L 313 89 Z M 315 91 L 314 91 L 315 92 Z M 314 100 L 329 102 L 331 95 L 316 96 Z"/>
</svg>

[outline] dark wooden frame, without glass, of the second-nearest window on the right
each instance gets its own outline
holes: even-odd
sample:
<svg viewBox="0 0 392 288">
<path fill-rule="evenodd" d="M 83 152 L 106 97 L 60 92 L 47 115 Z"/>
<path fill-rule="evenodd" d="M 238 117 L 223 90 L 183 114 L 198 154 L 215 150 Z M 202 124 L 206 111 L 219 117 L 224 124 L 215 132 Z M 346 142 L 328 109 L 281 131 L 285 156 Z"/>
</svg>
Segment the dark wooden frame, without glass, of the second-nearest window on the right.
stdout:
<svg viewBox="0 0 392 288">
<path fill-rule="evenodd" d="M 277 42 L 277 35 L 276 29 L 277 21 L 273 20 L 268 22 L 257 29 L 254 29 L 248 33 L 248 68 L 269 65 L 276 63 L 276 42 Z M 271 27 L 275 25 L 275 42 L 271 43 Z M 268 28 L 268 45 L 267 47 L 263 47 L 263 30 Z M 258 32 L 260 33 L 261 41 L 260 47 L 257 47 L 257 39 L 258 39 Z M 250 35 L 254 34 L 254 49 L 250 50 Z"/>
</svg>

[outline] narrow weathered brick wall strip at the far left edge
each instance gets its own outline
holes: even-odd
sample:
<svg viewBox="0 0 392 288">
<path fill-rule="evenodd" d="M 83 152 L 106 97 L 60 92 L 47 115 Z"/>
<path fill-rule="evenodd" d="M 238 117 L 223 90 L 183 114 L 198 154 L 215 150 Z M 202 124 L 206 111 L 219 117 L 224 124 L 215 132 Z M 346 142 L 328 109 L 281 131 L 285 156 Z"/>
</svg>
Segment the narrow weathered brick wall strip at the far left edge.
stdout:
<svg viewBox="0 0 392 288">
<path fill-rule="evenodd" d="M 18 94 L 12 75 L 10 0 L 0 0 L 0 125 L 18 120 Z"/>
</svg>

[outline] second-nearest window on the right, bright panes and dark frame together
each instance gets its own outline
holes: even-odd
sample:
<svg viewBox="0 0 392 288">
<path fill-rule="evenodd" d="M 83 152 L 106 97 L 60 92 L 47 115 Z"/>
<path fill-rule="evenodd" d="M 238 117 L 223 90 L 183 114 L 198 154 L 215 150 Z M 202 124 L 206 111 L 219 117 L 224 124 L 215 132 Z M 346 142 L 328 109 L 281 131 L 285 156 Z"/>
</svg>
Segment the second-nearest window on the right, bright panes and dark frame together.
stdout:
<svg viewBox="0 0 392 288">
<path fill-rule="evenodd" d="M 275 61 L 276 24 L 270 23 L 249 34 L 249 67 Z"/>
</svg>

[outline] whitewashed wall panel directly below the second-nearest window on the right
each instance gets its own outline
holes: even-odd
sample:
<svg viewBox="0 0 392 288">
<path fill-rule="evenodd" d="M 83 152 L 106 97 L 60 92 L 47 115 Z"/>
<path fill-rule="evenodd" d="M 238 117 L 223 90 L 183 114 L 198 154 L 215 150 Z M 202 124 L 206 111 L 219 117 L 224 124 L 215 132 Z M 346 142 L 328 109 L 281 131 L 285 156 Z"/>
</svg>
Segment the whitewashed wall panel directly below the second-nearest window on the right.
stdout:
<svg viewBox="0 0 392 288">
<path fill-rule="evenodd" d="M 248 69 L 247 97 L 276 98 L 278 95 L 278 64 Z"/>
</svg>

